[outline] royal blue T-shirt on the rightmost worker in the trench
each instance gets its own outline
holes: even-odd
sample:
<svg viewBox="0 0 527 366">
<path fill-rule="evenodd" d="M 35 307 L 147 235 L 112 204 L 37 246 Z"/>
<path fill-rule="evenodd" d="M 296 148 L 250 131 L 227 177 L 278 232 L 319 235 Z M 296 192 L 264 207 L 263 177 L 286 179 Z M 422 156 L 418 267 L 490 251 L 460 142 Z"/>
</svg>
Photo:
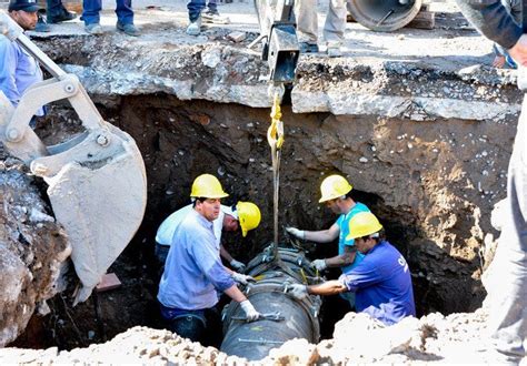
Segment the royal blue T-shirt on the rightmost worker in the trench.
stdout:
<svg viewBox="0 0 527 366">
<path fill-rule="evenodd" d="M 348 291 L 356 292 L 357 312 L 387 325 L 416 316 L 410 270 L 402 254 L 386 241 L 374 246 L 364 261 L 339 281 Z"/>
</svg>

